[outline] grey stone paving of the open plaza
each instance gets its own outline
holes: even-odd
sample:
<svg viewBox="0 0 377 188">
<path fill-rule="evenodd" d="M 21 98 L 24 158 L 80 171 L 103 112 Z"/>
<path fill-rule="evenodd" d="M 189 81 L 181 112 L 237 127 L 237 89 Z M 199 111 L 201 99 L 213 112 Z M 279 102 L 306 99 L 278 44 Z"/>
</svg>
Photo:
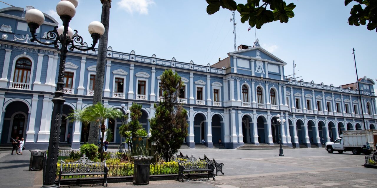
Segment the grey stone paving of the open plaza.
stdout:
<svg viewBox="0 0 377 188">
<path fill-rule="evenodd" d="M 377 169 L 365 168 L 363 155 L 327 153 L 325 149 L 284 150 L 181 150 L 184 155 L 208 156 L 224 163 L 225 176 L 212 180 L 151 181 L 146 188 L 316 188 L 377 187 Z M 0 152 L 1 187 L 40 187 L 41 171 L 28 171 L 30 152 L 11 156 Z M 97 185 L 93 185 L 96 186 Z M 109 183 L 109 187 L 133 187 L 132 182 Z M 68 186 L 62 186 L 68 187 Z M 70 186 L 80 187 L 80 186 Z M 85 186 L 83 186 L 85 187 Z M 89 186 L 88 186 L 89 187 Z M 101 187 L 98 185 L 98 187 Z M 136 187 L 136 186 L 135 186 Z"/>
</svg>

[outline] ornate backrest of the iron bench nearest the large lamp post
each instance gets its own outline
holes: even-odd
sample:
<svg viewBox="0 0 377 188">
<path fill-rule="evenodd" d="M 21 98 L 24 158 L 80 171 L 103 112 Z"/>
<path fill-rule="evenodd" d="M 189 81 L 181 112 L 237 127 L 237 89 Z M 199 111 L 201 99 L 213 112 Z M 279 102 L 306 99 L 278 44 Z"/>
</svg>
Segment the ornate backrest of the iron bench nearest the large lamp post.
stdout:
<svg viewBox="0 0 377 188">
<path fill-rule="evenodd" d="M 104 172 L 105 168 L 107 168 L 106 159 L 103 162 L 93 162 L 85 154 L 75 162 L 60 160 L 61 173 L 98 173 Z"/>
</svg>

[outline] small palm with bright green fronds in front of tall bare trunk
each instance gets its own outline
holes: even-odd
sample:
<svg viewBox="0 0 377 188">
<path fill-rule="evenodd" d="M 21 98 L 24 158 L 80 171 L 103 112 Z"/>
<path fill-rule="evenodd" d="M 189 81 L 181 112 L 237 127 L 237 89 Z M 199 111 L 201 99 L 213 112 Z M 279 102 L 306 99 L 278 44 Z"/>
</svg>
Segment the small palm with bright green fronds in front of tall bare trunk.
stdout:
<svg viewBox="0 0 377 188">
<path fill-rule="evenodd" d="M 90 120 L 94 120 L 100 124 L 98 128 L 101 129 L 102 132 L 101 146 L 103 146 L 103 138 L 106 131 L 106 120 L 109 118 L 120 118 L 123 115 L 123 113 L 119 109 L 106 108 L 100 102 L 86 108 L 86 114 L 90 117 Z M 102 153 L 103 149 L 101 149 L 100 151 Z"/>
</svg>

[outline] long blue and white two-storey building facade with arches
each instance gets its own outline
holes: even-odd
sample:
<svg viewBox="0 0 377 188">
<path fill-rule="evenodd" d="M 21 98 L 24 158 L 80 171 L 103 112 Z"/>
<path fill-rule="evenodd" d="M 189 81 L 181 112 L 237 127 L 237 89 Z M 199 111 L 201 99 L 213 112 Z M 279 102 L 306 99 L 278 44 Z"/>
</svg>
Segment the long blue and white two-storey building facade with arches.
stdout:
<svg viewBox="0 0 377 188">
<path fill-rule="evenodd" d="M 46 149 L 57 82 L 57 49 L 31 42 L 25 12 L 32 7 L 0 10 L 0 142 L 24 137 L 28 149 Z M 57 25 L 49 15 L 37 30 L 42 41 Z M 149 131 L 153 105 L 163 100 L 160 75 L 166 69 L 177 72 L 184 82 L 178 101 L 187 110 L 191 148 L 204 138 L 211 148 L 222 140 L 234 149 L 244 143 L 274 144 L 278 127 L 271 124 L 277 114 L 287 121 L 282 126 L 282 142 L 321 146 L 339 138 L 343 130 L 375 129 L 377 123 L 374 82 L 360 79 L 360 92 L 348 85 L 333 86 L 313 81 L 286 79 L 284 61 L 259 46 L 241 45 L 239 50 L 216 64 L 196 65 L 141 56 L 134 51 L 116 52 L 108 48 L 103 103 L 109 108 L 143 106 L 140 123 Z M 65 67 L 65 99 L 60 141 L 70 133 L 72 149 L 83 142 L 82 124 L 67 115 L 92 104 L 97 52 L 69 51 Z M 364 121 L 363 121 L 364 117 Z M 121 120 L 109 120 L 113 143 L 120 143 Z"/>
</svg>

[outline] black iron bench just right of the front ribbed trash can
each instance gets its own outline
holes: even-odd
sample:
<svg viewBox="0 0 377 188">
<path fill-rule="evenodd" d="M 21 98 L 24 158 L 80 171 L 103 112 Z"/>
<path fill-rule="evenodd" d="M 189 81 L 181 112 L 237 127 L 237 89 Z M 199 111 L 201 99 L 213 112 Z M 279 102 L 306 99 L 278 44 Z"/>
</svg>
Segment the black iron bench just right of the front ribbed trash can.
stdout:
<svg viewBox="0 0 377 188">
<path fill-rule="evenodd" d="M 214 170 L 215 165 L 209 164 L 208 161 L 198 161 L 193 155 L 191 155 L 191 157 L 187 161 L 178 160 L 177 181 L 182 179 L 182 182 L 185 182 L 183 174 L 185 172 L 208 172 L 207 179 L 209 179 L 209 177 L 212 177 L 213 180 L 216 180 L 215 175 L 213 174 Z"/>
</svg>

